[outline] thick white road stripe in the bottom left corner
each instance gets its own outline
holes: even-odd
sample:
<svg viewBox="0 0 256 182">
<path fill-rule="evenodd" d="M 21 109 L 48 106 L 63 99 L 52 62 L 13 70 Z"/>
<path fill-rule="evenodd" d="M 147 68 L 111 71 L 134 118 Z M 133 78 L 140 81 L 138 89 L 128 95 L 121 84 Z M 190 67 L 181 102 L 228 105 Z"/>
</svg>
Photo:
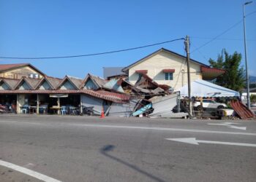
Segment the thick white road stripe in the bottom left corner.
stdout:
<svg viewBox="0 0 256 182">
<path fill-rule="evenodd" d="M 0 165 L 4 166 L 4 167 L 11 168 L 12 170 L 17 170 L 20 173 L 24 173 L 26 175 L 30 175 L 30 176 L 32 176 L 34 178 L 37 178 L 37 179 L 45 181 L 45 182 L 61 182 L 61 181 L 56 180 L 54 178 L 50 178 L 47 175 L 42 175 L 41 173 L 37 173 L 34 170 L 29 170 L 29 169 L 27 169 L 25 167 L 20 167 L 18 165 L 14 165 L 14 164 L 12 164 L 10 162 L 5 162 L 5 161 L 0 160 Z"/>
</svg>

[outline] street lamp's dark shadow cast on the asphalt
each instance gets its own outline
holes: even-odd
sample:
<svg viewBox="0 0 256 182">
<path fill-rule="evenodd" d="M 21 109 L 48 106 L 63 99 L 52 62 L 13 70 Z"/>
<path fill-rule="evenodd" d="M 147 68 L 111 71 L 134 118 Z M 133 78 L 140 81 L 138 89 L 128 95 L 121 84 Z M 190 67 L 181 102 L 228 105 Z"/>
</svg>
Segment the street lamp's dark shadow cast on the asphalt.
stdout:
<svg viewBox="0 0 256 182">
<path fill-rule="evenodd" d="M 105 155 L 105 157 L 109 157 L 110 159 L 113 159 L 116 162 L 120 162 L 121 164 L 126 165 L 127 167 L 130 167 L 132 170 L 136 170 L 139 173 L 148 176 L 148 178 L 151 178 L 154 181 L 164 182 L 161 178 L 158 178 L 157 176 L 151 175 L 151 174 L 147 173 L 146 171 L 141 170 L 139 167 L 137 167 L 135 165 L 129 164 L 128 162 L 125 162 L 122 159 L 118 159 L 117 157 L 113 157 L 110 154 L 108 154 L 108 151 L 113 151 L 114 148 L 115 148 L 115 146 L 113 146 L 113 145 L 104 146 L 104 147 L 102 147 L 102 149 L 100 149 L 100 152 L 103 155 Z"/>
</svg>

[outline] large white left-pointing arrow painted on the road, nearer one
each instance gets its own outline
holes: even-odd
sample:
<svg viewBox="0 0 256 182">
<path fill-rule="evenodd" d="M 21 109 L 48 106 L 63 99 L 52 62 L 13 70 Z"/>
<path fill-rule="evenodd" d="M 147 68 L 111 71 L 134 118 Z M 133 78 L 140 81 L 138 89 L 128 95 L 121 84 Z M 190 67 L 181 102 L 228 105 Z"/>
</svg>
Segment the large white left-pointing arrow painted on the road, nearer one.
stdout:
<svg viewBox="0 0 256 182">
<path fill-rule="evenodd" d="M 223 141 L 200 141 L 196 138 L 165 138 L 168 141 L 178 141 L 183 143 L 189 143 L 193 145 L 199 145 L 199 143 L 212 143 L 220 145 L 229 145 L 229 146 L 252 146 L 256 147 L 254 143 L 233 143 L 233 142 L 223 142 Z"/>
</svg>

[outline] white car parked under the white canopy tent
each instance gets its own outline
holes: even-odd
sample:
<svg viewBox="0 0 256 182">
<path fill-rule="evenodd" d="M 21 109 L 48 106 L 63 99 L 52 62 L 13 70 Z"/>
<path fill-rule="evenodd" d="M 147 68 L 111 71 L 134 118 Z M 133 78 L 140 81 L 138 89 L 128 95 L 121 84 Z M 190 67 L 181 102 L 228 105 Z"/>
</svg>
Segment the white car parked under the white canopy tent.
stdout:
<svg viewBox="0 0 256 182">
<path fill-rule="evenodd" d="M 197 108 L 198 111 L 202 110 L 203 108 L 227 108 L 225 103 L 217 103 L 211 99 L 203 99 L 203 108 L 200 104 L 200 100 L 195 100 L 194 107 Z"/>
</svg>

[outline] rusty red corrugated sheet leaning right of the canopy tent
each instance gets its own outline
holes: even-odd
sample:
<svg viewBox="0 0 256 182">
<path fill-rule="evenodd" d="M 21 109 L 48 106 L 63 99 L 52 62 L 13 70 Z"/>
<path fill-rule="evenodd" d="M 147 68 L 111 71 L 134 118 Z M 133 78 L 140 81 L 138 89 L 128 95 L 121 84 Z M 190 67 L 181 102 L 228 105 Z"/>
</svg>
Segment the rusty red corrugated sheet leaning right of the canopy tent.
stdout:
<svg viewBox="0 0 256 182">
<path fill-rule="evenodd" d="M 241 101 L 232 101 L 230 105 L 241 119 L 249 119 L 255 116 Z"/>
</svg>

